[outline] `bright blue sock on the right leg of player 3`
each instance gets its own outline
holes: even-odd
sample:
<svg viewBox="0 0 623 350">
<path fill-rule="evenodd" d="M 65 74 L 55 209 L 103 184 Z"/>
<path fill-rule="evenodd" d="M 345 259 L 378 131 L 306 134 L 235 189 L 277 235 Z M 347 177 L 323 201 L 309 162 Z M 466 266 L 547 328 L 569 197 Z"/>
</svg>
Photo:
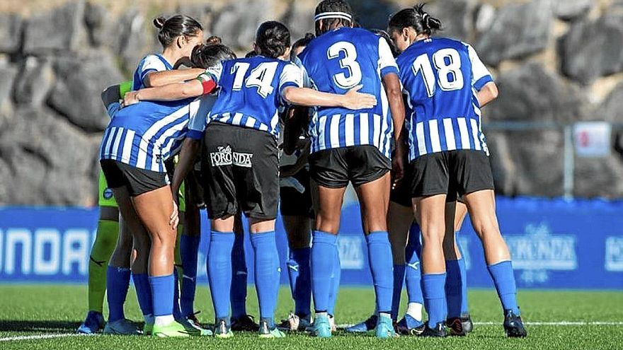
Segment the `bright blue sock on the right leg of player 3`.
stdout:
<svg viewBox="0 0 623 350">
<path fill-rule="evenodd" d="M 391 298 L 394 291 L 394 262 L 391 260 L 391 245 L 387 232 L 371 232 L 367 240 L 368 262 L 375 284 L 377 309 L 379 313 L 391 314 Z"/>
</svg>

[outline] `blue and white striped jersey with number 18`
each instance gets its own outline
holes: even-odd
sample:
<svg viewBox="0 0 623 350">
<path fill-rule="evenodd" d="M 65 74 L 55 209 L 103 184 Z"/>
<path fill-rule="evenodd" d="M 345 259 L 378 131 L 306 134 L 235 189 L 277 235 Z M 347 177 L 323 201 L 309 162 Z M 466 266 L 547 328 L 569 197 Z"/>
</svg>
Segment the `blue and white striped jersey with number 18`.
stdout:
<svg viewBox="0 0 623 350">
<path fill-rule="evenodd" d="M 476 51 L 464 42 L 433 37 L 413 43 L 397 61 L 411 110 L 409 161 L 456 149 L 488 154 L 476 91 L 493 78 Z"/>
</svg>

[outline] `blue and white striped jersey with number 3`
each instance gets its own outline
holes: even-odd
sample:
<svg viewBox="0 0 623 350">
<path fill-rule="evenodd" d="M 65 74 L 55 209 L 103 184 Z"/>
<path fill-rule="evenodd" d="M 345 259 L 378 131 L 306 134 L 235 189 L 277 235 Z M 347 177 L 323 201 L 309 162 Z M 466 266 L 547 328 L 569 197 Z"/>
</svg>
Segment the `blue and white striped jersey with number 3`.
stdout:
<svg viewBox="0 0 623 350">
<path fill-rule="evenodd" d="M 347 93 L 362 85 L 379 103 L 369 110 L 319 107 L 311 117 L 311 153 L 329 148 L 372 145 L 391 157 L 394 123 L 382 83 L 398 74 L 387 42 L 360 28 L 339 28 L 312 40 L 299 58 L 312 86 L 326 93 Z"/>
</svg>

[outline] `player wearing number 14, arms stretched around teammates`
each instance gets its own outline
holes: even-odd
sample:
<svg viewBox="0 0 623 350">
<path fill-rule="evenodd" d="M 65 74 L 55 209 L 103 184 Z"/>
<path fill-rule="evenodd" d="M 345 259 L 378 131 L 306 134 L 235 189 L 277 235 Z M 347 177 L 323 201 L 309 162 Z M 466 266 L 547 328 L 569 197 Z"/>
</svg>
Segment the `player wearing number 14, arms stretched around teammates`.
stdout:
<svg viewBox="0 0 623 350">
<path fill-rule="evenodd" d="M 275 243 L 278 202 L 278 110 L 282 103 L 370 107 L 376 99 L 353 89 L 345 95 L 300 88 L 301 72 L 286 59 L 290 32 L 278 22 L 260 25 L 257 57 L 234 59 L 208 69 L 197 80 L 147 88 L 126 100 L 178 100 L 212 93 L 219 96 L 205 130 L 202 171 L 208 214 L 212 219 L 207 264 L 215 306 L 217 337 L 232 337 L 229 329 L 229 291 L 234 214 L 249 218 L 255 252 L 255 279 L 260 305 L 260 337 L 283 337 L 275 327 L 279 286 Z M 281 59 L 280 59 L 281 58 Z M 181 174 L 185 175 L 185 174 Z"/>
</svg>

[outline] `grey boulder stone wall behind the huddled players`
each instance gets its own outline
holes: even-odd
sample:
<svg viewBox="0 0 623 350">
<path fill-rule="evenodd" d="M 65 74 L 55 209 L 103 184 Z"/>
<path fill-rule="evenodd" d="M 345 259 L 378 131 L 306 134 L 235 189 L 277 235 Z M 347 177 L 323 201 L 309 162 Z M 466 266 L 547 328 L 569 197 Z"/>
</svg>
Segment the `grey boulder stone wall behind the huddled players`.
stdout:
<svg viewBox="0 0 623 350">
<path fill-rule="evenodd" d="M 11 1 L 9 1 L 11 2 Z M 314 0 L 41 1 L 0 6 L 0 204 L 93 205 L 97 149 L 108 123 L 99 93 L 158 52 L 152 18 L 181 12 L 239 52 L 258 23 L 279 19 L 300 37 Z M 12 3 L 12 2 L 11 2 Z M 45 1 L 44 1 L 45 3 Z M 384 28 L 401 0 L 351 1 L 360 23 Z M 52 3 L 48 3 L 52 4 Z M 209 5 L 208 5 L 209 4 Z M 622 0 L 438 0 L 441 35 L 470 42 L 500 98 L 484 119 L 623 122 Z M 490 130 L 498 192 L 562 194 L 561 129 Z M 615 133 L 613 149 L 623 149 Z M 623 158 L 576 159 L 576 195 L 622 197 Z"/>
</svg>

